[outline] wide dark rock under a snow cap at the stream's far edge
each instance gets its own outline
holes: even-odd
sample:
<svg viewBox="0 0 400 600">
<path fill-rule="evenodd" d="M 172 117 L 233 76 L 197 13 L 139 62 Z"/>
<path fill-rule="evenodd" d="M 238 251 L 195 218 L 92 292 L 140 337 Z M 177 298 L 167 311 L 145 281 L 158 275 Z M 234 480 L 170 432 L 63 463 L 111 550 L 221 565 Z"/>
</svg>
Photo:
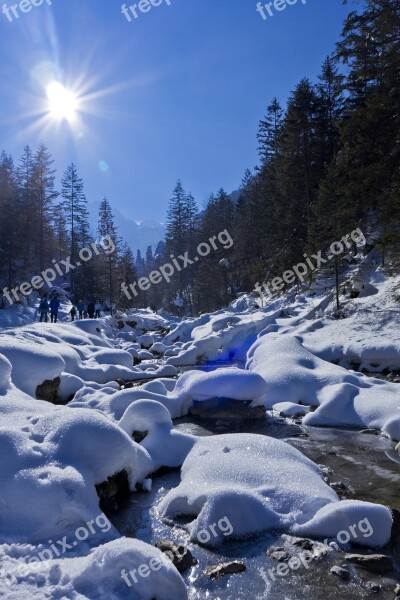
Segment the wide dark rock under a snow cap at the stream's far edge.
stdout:
<svg viewBox="0 0 400 600">
<path fill-rule="evenodd" d="M 191 414 L 205 419 L 265 419 L 263 406 L 250 406 L 251 401 L 238 401 L 231 398 L 211 398 L 193 402 Z"/>
</svg>

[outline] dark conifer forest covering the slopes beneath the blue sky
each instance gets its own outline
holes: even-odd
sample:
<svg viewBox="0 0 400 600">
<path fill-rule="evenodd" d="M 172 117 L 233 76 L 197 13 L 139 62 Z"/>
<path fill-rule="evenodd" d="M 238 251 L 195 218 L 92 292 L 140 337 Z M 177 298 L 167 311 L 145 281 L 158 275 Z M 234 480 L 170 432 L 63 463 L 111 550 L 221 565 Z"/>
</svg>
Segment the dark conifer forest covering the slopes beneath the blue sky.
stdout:
<svg viewBox="0 0 400 600">
<path fill-rule="evenodd" d="M 285 106 L 267 101 L 258 134 L 259 165 L 246 171 L 235 201 L 223 189 L 199 213 L 178 181 L 167 215 L 167 237 L 145 257 L 119 239 L 107 200 L 98 231 L 89 231 L 83 182 L 75 165 L 55 186 L 43 143 L 13 161 L 0 159 L 0 284 L 12 288 L 109 236 L 115 252 L 95 255 L 63 278 L 72 297 L 99 297 L 121 308 L 153 306 L 179 314 L 213 311 L 324 249 L 355 227 L 396 253 L 400 242 L 400 2 L 368 0 L 351 12 L 341 40 L 316 81 L 304 78 Z M 273 90 L 271 90 L 273 92 Z M 249 91 L 251 93 L 251 91 Z M 177 174 L 179 175 L 179 174 Z M 95 199 L 92 199 L 95 200 Z M 172 282 L 121 291 L 198 244 L 227 230 L 218 247 Z M 340 258 L 332 269 L 340 276 Z M 105 263 L 105 264 L 104 264 Z M 104 268 L 105 267 L 105 268 Z"/>
</svg>

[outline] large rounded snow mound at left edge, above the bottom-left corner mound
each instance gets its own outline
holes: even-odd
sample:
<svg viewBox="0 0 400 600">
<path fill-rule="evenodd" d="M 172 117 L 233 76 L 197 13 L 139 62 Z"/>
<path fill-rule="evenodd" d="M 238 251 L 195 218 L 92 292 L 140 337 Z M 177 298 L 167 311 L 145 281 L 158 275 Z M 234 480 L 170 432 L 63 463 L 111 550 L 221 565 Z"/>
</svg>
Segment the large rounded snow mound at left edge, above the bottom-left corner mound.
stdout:
<svg viewBox="0 0 400 600">
<path fill-rule="evenodd" d="M 125 470 L 137 483 L 137 445 L 95 411 L 11 390 L 0 404 L 0 534 L 38 542 L 99 512 L 95 484 Z M 27 510 L 29 499 L 29 510 Z"/>
</svg>

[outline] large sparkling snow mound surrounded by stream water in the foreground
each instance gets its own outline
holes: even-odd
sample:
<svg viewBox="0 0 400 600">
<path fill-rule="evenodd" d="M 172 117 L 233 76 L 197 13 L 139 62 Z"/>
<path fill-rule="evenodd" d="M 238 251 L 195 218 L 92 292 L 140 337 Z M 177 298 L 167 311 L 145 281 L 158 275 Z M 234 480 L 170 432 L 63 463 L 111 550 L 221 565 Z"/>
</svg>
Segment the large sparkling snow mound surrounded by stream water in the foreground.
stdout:
<svg viewBox="0 0 400 600">
<path fill-rule="evenodd" d="M 201 532 L 223 518 L 234 538 L 272 530 L 335 537 L 361 514 L 374 530 L 365 539 L 370 547 L 384 545 L 392 526 L 389 509 L 340 502 L 312 461 L 285 442 L 254 434 L 200 439 L 182 465 L 180 484 L 157 509 L 164 519 L 192 518 L 192 541 L 202 541 Z M 225 539 L 221 531 L 209 537 L 210 546 Z"/>
</svg>

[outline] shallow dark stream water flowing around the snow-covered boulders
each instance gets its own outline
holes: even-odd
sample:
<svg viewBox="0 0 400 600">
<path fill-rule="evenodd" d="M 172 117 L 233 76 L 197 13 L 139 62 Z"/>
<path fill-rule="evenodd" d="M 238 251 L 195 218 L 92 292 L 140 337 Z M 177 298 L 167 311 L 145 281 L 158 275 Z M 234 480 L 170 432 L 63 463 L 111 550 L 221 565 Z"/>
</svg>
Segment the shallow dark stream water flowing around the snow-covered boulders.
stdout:
<svg viewBox="0 0 400 600">
<path fill-rule="evenodd" d="M 352 430 L 305 428 L 300 423 L 267 416 L 265 420 L 216 420 L 186 417 L 175 421 L 175 426 L 196 436 L 213 436 L 222 433 L 258 433 L 282 439 L 296 447 L 315 463 L 329 467 L 331 482 L 342 482 L 346 497 L 382 503 L 400 510 L 400 456 L 395 444 L 377 435 L 362 434 Z M 273 581 L 268 570 L 276 568 L 276 560 L 266 551 L 271 546 L 290 546 L 292 538 L 282 534 L 264 534 L 245 541 L 226 538 L 217 550 L 207 550 L 188 541 L 188 534 L 179 526 L 169 526 L 157 516 L 156 507 L 168 491 L 178 485 L 179 471 L 158 474 L 153 480 L 151 493 L 131 495 L 130 504 L 113 519 L 118 530 L 126 536 L 136 537 L 154 544 L 170 539 L 190 548 L 198 564 L 183 577 L 190 600 L 368 600 L 377 591 L 369 586 L 380 586 L 378 597 L 395 598 L 394 588 L 399 578 L 374 575 L 345 564 L 344 552 L 329 552 L 315 559 L 308 568 L 302 566 Z M 359 547 L 355 552 L 365 553 Z M 211 580 L 205 571 L 231 560 L 243 560 L 246 571 L 241 574 Z M 333 565 L 345 566 L 352 574 L 345 582 L 330 573 Z M 260 569 L 265 569 L 267 579 Z M 172 600 L 172 599 L 171 599 Z"/>
</svg>

